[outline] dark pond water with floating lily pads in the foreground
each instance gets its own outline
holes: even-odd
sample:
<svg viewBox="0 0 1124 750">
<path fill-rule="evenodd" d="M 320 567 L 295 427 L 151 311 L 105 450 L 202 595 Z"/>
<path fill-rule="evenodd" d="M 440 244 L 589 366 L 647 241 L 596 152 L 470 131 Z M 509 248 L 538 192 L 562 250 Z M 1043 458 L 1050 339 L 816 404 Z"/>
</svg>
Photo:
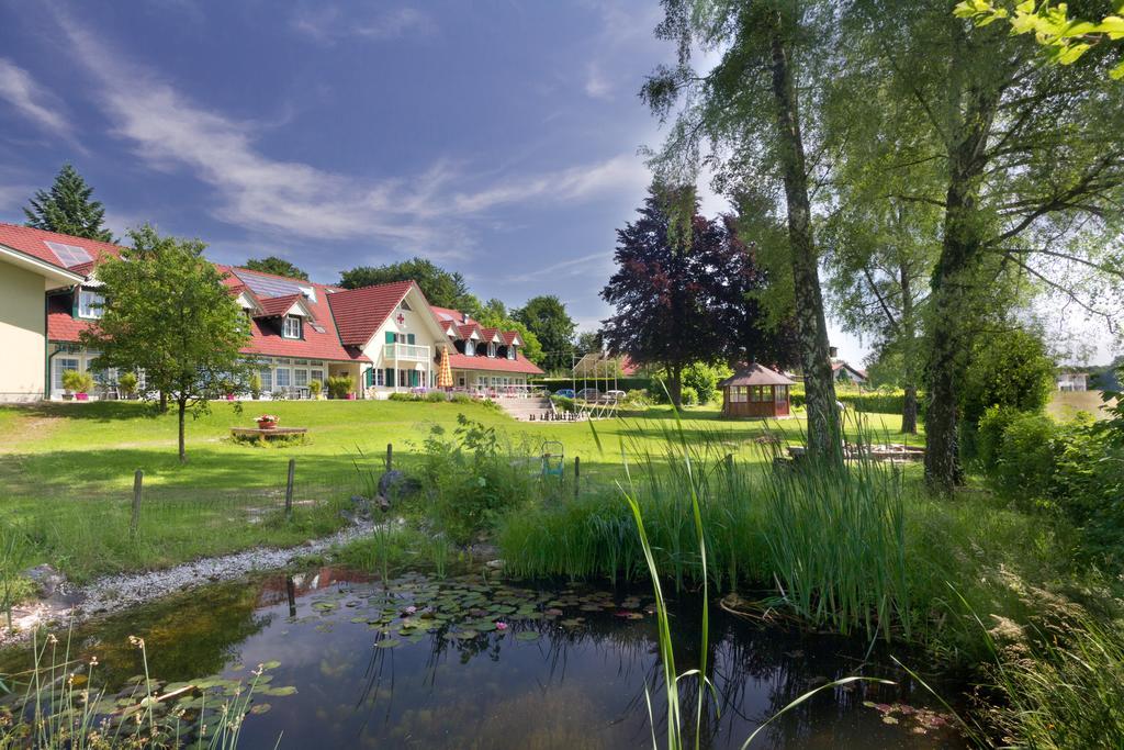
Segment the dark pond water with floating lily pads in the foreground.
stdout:
<svg viewBox="0 0 1124 750">
<path fill-rule="evenodd" d="M 656 624 L 646 589 L 533 586 L 479 576 L 408 575 L 388 586 L 325 568 L 215 585 L 75 633 L 116 690 L 148 669 L 167 683 L 247 679 L 260 663 L 241 748 L 651 748 L 665 746 Z M 677 672 L 698 663 L 700 603 L 676 604 Z M 500 623 L 497 625 L 497 623 Z M 740 748 L 812 688 L 856 670 L 895 685 L 825 689 L 758 737 L 762 748 L 960 748 L 949 717 L 901 670 L 863 663 L 864 644 L 763 629 L 711 607 L 716 698 L 703 746 Z M 0 672 L 28 666 L 0 653 Z M 888 659 L 886 660 L 888 661 Z M 296 692 L 289 689 L 296 688 Z M 694 724 L 694 684 L 683 713 Z"/>
</svg>

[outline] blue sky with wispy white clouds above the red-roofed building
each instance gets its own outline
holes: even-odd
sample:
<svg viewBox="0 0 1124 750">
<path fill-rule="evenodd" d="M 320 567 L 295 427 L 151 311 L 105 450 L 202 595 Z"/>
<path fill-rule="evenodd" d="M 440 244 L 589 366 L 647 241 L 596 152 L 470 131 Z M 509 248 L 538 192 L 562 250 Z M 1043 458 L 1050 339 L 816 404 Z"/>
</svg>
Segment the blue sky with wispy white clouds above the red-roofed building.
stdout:
<svg viewBox="0 0 1124 750">
<path fill-rule="evenodd" d="M 326 282 L 423 255 L 591 328 L 661 138 L 636 97 L 673 55 L 659 19 L 655 0 L 0 0 L 0 220 L 71 161 L 118 235 L 153 222 Z"/>
</svg>

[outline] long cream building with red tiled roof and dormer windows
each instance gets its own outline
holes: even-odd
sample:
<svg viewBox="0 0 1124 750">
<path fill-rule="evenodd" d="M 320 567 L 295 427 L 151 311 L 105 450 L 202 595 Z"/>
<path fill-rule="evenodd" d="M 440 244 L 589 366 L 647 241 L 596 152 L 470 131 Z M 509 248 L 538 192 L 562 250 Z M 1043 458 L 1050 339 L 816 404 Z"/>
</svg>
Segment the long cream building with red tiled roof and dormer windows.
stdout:
<svg viewBox="0 0 1124 750">
<path fill-rule="evenodd" d="M 98 352 L 80 335 L 101 314 L 97 265 L 120 251 L 0 223 L 0 346 L 18 362 L 0 368 L 0 400 L 61 398 L 66 370 L 93 372 L 101 395 L 115 390 L 117 373 L 97 369 Z M 307 397 L 309 383 L 329 377 L 351 378 L 360 398 L 434 388 L 445 355 L 454 388 L 477 394 L 524 392 L 528 376 L 542 374 L 523 355 L 517 332 L 433 307 L 413 281 L 342 289 L 216 268 L 245 311 L 243 351 L 261 363 L 266 397 Z"/>
</svg>

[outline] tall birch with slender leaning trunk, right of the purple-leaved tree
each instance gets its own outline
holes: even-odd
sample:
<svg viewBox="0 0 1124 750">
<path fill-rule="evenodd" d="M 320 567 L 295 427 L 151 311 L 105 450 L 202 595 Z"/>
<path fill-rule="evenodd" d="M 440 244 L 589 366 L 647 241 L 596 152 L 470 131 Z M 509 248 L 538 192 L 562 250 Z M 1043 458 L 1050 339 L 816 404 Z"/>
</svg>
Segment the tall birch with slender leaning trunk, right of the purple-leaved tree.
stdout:
<svg viewBox="0 0 1124 750">
<path fill-rule="evenodd" d="M 801 98 L 826 80 L 816 70 L 822 44 L 817 3 L 779 0 L 664 0 L 665 18 L 656 29 L 678 43 L 674 67 L 661 66 L 642 91 L 665 119 L 687 101 L 654 163 L 697 170 L 703 143 L 711 144 L 709 163 L 719 183 L 736 190 L 754 181 L 776 183 L 783 195 L 788 261 L 804 368 L 808 410 L 808 450 L 842 467 L 842 432 L 827 352 L 827 324 L 819 288 L 819 259 L 813 236 L 805 128 L 812 120 Z M 706 75 L 690 66 L 692 47 L 720 51 Z M 814 96 L 814 94 L 813 94 Z M 680 177 L 679 181 L 683 181 Z"/>
</svg>

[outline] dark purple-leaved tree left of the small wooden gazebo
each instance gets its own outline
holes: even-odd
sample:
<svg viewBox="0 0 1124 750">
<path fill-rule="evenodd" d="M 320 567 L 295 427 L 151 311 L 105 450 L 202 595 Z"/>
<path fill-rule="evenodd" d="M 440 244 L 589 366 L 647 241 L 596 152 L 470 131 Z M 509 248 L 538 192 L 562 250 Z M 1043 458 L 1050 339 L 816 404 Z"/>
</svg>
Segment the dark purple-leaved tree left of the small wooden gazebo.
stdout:
<svg viewBox="0 0 1124 750">
<path fill-rule="evenodd" d="M 685 369 L 718 359 L 723 349 L 709 271 L 724 238 L 716 222 L 694 214 L 687 246 L 678 247 L 671 216 L 677 199 L 673 191 L 651 188 L 640 217 L 617 229 L 617 270 L 601 298 L 615 308 L 602 322 L 609 351 L 662 368 L 668 395 L 679 406 Z"/>
</svg>

